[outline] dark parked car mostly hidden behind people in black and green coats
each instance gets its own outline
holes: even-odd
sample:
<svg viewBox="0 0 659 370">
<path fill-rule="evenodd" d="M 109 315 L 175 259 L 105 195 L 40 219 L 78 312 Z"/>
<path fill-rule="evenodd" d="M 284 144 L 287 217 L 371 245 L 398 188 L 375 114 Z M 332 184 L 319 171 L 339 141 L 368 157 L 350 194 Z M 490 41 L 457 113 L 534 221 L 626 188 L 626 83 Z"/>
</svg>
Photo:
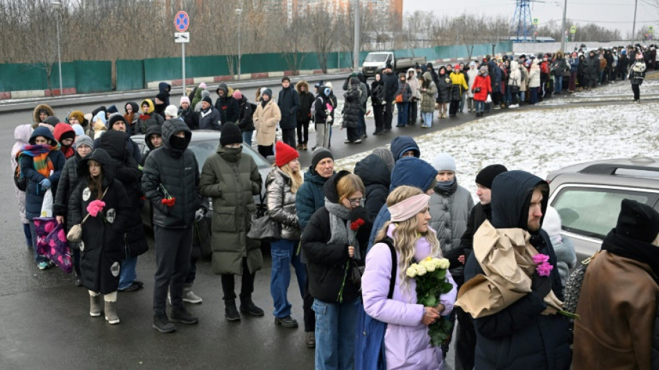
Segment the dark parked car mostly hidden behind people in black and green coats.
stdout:
<svg viewBox="0 0 659 370">
<path fill-rule="evenodd" d="M 146 146 L 144 143 L 144 135 L 132 135 L 130 138 L 139 146 L 142 155 L 145 155 L 148 152 L 148 146 Z M 219 144 L 219 131 L 192 131 L 192 139 L 188 148 L 194 152 L 194 155 L 197 158 L 197 162 L 199 163 L 199 171 L 201 171 L 203 168 L 204 162 L 206 162 L 206 158 L 208 158 L 213 153 L 216 153 L 217 146 Z M 259 173 L 265 182 L 268 172 L 270 172 L 272 169 L 272 163 L 266 158 L 263 158 L 259 152 L 257 152 L 255 149 L 252 149 L 252 147 L 249 145 L 243 144 L 243 154 L 250 155 L 250 157 L 254 158 L 256 165 L 259 167 Z M 265 186 L 262 188 L 261 194 L 265 199 Z M 259 199 L 259 196 L 255 196 L 254 201 L 255 203 L 259 204 L 261 199 Z M 213 215 L 212 201 L 210 201 L 210 199 L 207 201 L 207 208 L 208 212 L 206 217 L 207 221 L 210 222 L 210 218 Z M 151 227 L 151 205 L 148 203 L 148 201 L 145 202 L 144 207 L 142 207 L 142 220 L 144 220 L 144 224 L 146 226 Z"/>
</svg>

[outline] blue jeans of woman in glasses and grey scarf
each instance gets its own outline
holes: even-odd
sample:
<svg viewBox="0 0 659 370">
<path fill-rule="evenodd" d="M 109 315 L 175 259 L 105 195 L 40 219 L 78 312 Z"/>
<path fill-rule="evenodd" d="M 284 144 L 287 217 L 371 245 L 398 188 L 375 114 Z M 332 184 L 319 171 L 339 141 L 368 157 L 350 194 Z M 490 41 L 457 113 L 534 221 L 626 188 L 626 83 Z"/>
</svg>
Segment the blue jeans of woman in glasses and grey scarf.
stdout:
<svg viewBox="0 0 659 370">
<path fill-rule="evenodd" d="M 327 303 L 314 299 L 316 312 L 316 370 L 350 370 L 359 297 L 352 302 Z"/>
</svg>

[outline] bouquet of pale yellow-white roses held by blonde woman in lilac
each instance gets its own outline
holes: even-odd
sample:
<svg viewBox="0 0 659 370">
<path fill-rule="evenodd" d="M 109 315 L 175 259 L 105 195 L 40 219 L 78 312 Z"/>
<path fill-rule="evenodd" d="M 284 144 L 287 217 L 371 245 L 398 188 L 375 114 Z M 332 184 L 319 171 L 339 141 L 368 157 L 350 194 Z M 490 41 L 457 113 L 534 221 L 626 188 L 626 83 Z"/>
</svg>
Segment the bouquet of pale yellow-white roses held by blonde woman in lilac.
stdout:
<svg viewBox="0 0 659 370">
<path fill-rule="evenodd" d="M 428 257 L 407 268 L 405 274 L 416 278 L 416 303 L 424 307 L 436 307 L 440 303 L 439 297 L 453 289 L 446 278 L 449 264 L 446 258 Z M 430 345 L 440 347 L 450 337 L 452 330 L 453 324 L 446 317 L 431 323 L 428 326 Z"/>
</svg>

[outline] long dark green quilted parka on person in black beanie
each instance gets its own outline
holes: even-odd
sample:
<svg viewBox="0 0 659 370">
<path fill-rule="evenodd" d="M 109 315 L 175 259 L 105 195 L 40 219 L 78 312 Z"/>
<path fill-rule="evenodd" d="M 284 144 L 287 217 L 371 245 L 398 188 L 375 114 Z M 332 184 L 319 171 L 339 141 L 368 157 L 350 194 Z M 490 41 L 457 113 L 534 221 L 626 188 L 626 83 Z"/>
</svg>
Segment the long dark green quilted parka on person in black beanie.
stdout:
<svg viewBox="0 0 659 370">
<path fill-rule="evenodd" d="M 260 194 L 263 181 L 256 162 L 241 151 L 219 145 L 201 170 L 200 192 L 213 201 L 211 249 L 215 274 L 243 274 L 244 257 L 250 274 L 263 266 L 260 242 L 247 238 L 251 215 L 256 212 L 253 195 Z"/>
</svg>

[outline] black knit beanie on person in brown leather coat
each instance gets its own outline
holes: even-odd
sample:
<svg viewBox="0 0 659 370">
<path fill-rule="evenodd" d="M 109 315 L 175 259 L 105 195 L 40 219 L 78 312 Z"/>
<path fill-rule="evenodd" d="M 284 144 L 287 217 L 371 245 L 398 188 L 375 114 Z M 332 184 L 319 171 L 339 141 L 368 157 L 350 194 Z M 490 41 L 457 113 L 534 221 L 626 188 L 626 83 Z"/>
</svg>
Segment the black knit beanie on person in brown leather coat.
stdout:
<svg viewBox="0 0 659 370">
<path fill-rule="evenodd" d="M 615 232 L 651 243 L 659 235 L 659 213 L 647 204 L 623 199 Z"/>
</svg>

